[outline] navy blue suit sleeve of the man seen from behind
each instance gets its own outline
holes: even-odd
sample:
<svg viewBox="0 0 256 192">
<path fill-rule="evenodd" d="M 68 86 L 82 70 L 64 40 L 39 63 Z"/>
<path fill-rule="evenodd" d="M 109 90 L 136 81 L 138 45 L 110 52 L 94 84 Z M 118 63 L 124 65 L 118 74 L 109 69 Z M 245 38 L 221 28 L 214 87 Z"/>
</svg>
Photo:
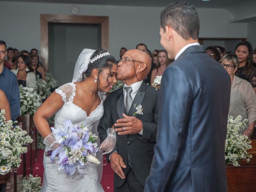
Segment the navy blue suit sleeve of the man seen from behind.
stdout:
<svg viewBox="0 0 256 192">
<path fill-rule="evenodd" d="M 160 117 L 154 158 L 145 190 L 162 192 L 172 179 L 190 118 L 193 96 L 184 70 L 178 66 L 166 68 L 160 89 Z"/>
</svg>

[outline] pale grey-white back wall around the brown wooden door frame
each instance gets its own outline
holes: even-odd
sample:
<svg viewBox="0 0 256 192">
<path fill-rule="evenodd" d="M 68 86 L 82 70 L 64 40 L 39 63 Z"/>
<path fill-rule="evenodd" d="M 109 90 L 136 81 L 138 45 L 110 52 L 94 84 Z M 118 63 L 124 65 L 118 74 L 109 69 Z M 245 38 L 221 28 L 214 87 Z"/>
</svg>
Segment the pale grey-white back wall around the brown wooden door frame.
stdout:
<svg viewBox="0 0 256 192">
<path fill-rule="evenodd" d="M 15 48 L 40 49 L 40 14 L 70 14 L 71 4 L 0 2 L 0 39 Z M 161 49 L 159 7 L 78 5 L 80 15 L 109 16 L 109 51 L 119 58 L 122 46 L 131 49 L 145 43 Z M 247 24 L 228 23 L 233 18 L 224 9 L 198 8 L 200 37 L 246 38 Z M 75 62 L 75 61 L 74 61 Z"/>
</svg>

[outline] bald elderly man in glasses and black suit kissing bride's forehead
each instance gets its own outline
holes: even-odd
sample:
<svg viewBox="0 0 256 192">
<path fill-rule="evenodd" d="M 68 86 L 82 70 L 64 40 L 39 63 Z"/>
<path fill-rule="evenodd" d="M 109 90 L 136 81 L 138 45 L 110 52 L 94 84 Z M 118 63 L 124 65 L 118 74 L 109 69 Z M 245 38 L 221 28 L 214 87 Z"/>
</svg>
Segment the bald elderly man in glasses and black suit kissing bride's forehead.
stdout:
<svg viewBox="0 0 256 192">
<path fill-rule="evenodd" d="M 125 52 L 117 69 L 124 88 L 110 93 L 104 102 L 104 115 L 98 125 L 100 141 L 112 125 L 118 133 L 116 147 L 107 155 L 115 172 L 115 192 L 142 192 L 150 172 L 158 123 L 158 90 L 143 81 L 150 68 L 146 52 Z M 137 106 L 142 111 L 137 112 Z"/>
</svg>

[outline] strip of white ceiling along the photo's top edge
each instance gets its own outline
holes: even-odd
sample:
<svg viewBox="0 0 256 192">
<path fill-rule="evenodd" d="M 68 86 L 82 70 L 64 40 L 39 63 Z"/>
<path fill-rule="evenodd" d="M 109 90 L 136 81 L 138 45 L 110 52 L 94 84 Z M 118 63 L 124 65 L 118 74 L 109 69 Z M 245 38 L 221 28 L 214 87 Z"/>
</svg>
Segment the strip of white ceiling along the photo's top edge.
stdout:
<svg viewBox="0 0 256 192">
<path fill-rule="evenodd" d="M 4 0 L 0 0 L 4 1 Z M 174 0 L 8 0 L 13 2 L 42 2 L 42 3 L 65 3 L 65 4 L 94 4 L 116 6 L 150 6 L 165 7 Z M 187 0 L 198 8 L 224 8 L 244 3 L 249 0 Z"/>
</svg>

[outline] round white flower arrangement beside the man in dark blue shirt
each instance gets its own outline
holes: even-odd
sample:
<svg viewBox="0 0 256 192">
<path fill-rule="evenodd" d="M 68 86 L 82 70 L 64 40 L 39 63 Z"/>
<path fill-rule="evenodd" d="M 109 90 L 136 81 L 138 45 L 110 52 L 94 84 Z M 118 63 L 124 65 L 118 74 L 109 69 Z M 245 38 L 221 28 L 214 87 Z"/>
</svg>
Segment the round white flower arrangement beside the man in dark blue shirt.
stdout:
<svg viewBox="0 0 256 192">
<path fill-rule="evenodd" d="M 42 104 L 42 100 L 37 92 L 30 87 L 20 85 L 20 115 L 24 116 L 29 113 L 33 116 L 36 110 Z"/>
</svg>

